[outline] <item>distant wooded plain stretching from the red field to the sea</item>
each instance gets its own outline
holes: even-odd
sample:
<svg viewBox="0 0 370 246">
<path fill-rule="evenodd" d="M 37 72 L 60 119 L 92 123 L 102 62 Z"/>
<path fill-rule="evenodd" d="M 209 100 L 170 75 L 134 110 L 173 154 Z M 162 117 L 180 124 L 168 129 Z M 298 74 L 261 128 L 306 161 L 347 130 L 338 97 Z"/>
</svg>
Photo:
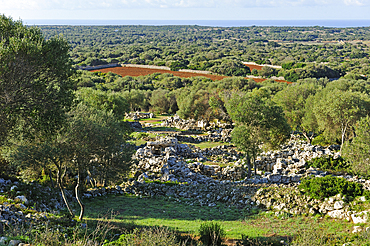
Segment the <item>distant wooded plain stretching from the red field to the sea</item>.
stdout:
<svg viewBox="0 0 370 246">
<path fill-rule="evenodd" d="M 250 74 L 242 62 L 282 65 L 263 77 L 289 81 L 307 77 L 369 75 L 368 28 L 41 26 L 46 38 L 61 34 L 79 66 L 131 63 L 172 70 L 206 70 L 229 76 Z M 321 64 L 320 66 L 317 66 Z M 256 73 L 256 71 L 254 71 Z"/>
</svg>

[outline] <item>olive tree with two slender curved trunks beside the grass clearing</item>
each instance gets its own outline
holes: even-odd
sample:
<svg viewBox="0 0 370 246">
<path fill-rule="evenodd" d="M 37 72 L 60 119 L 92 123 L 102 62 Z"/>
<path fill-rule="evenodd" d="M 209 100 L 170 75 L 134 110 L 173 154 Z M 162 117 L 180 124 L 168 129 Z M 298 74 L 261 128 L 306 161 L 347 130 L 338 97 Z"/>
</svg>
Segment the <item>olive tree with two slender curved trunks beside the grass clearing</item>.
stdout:
<svg viewBox="0 0 370 246">
<path fill-rule="evenodd" d="M 133 153 L 133 148 L 125 144 L 129 133 L 129 127 L 112 111 L 97 110 L 80 103 L 68 113 L 67 124 L 58 135 L 47 141 L 17 143 L 7 154 L 7 159 L 20 170 L 41 166 L 56 171 L 58 187 L 72 215 L 64 193 L 64 177 L 67 170 L 76 174 L 75 196 L 82 219 L 85 207 L 79 192 L 83 181 L 89 175 L 105 185 L 126 174 Z"/>
</svg>

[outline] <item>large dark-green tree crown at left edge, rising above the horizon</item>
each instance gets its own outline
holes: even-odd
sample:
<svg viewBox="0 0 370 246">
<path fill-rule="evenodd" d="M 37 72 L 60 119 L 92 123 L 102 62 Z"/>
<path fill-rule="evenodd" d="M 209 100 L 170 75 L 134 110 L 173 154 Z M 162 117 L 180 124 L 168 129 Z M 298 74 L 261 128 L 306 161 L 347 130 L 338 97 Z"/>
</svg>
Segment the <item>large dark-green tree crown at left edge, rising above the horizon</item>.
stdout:
<svg viewBox="0 0 370 246">
<path fill-rule="evenodd" d="M 18 130 L 52 135 L 73 102 L 68 42 L 0 15 L 0 146 Z"/>
</svg>

